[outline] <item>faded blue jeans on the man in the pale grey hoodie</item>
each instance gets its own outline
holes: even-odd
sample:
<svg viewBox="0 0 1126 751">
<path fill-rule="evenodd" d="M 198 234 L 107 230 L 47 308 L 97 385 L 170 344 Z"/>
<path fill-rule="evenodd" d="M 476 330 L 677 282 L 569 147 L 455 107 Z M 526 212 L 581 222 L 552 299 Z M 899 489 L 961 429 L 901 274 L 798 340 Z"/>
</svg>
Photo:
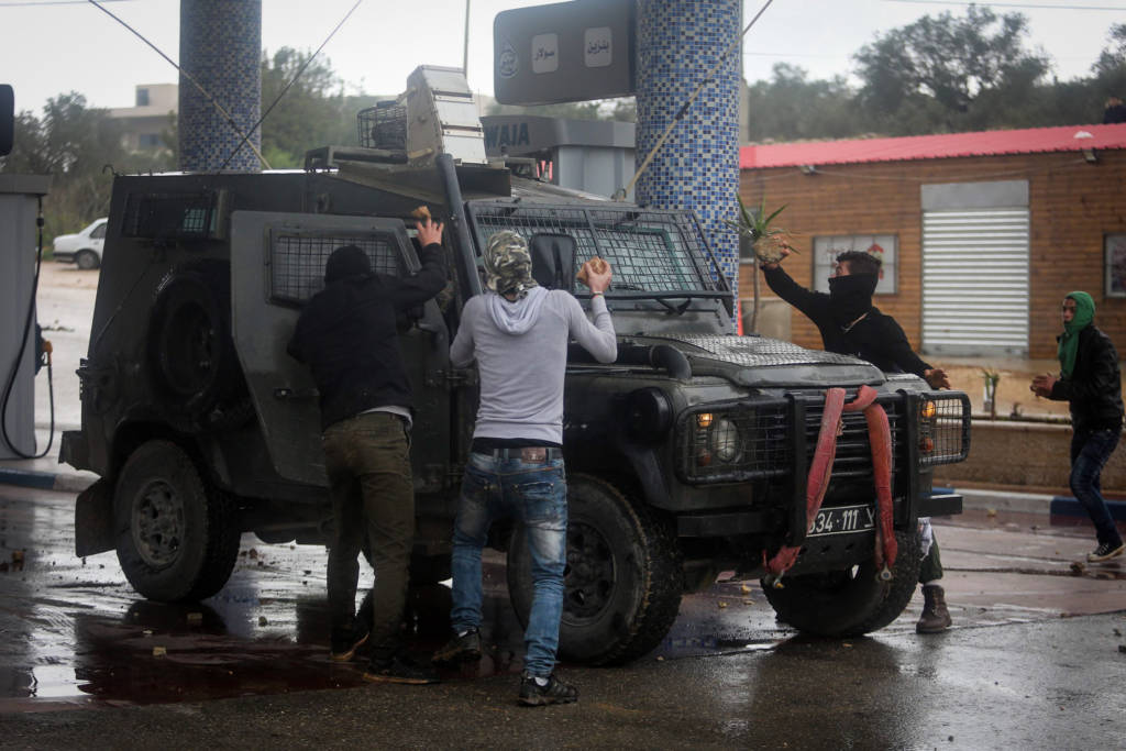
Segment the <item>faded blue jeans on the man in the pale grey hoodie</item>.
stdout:
<svg viewBox="0 0 1126 751">
<path fill-rule="evenodd" d="M 531 553 L 534 596 L 524 632 L 524 667 L 533 676 L 555 668 L 563 616 L 566 566 L 566 474 L 563 459 L 524 462 L 470 454 L 454 522 L 454 607 L 456 632 L 481 626 L 481 548 L 494 519 L 515 517 Z"/>
</svg>

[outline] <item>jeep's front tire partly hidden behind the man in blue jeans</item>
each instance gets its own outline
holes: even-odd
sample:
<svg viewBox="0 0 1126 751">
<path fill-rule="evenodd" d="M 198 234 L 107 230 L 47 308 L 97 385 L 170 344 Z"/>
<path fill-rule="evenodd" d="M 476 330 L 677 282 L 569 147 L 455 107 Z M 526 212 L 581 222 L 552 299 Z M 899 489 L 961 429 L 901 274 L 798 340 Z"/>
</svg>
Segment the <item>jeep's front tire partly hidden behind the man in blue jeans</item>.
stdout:
<svg viewBox="0 0 1126 751">
<path fill-rule="evenodd" d="M 683 591 L 669 526 L 596 477 L 568 480 L 568 565 L 560 656 L 620 664 L 655 647 L 672 627 Z M 508 589 L 520 624 L 531 610 L 531 564 L 517 525 L 508 548 Z"/>
</svg>

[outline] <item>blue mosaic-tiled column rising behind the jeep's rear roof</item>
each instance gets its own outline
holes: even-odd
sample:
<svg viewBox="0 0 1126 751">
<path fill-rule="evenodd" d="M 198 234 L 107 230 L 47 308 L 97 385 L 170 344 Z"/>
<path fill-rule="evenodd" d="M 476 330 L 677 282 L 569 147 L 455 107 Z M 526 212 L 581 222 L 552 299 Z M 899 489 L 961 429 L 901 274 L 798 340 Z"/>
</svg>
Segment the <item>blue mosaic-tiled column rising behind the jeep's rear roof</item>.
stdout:
<svg viewBox="0 0 1126 751">
<path fill-rule="evenodd" d="M 260 169 L 242 135 L 258 122 L 262 78 L 261 0 L 180 0 L 180 66 L 191 74 L 238 125 L 185 75 L 180 75 L 180 169 Z M 259 133 L 250 137 L 254 149 Z M 232 159 L 231 154 L 238 149 Z"/>
</svg>

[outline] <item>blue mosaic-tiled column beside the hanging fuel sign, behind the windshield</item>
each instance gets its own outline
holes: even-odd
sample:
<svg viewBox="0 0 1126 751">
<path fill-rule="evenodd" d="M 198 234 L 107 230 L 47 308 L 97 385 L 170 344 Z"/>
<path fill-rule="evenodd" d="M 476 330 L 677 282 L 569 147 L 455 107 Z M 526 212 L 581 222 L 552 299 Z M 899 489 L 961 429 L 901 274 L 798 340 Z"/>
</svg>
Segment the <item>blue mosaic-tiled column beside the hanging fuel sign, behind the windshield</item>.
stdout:
<svg viewBox="0 0 1126 751">
<path fill-rule="evenodd" d="M 653 149 L 734 42 L 740 0 L 637 0 L 637 163 Z M 733 218 L 739 190 L 739 55 L 688 108 L 637 181 L 637 203 L 689 208 L 736 290 L 739 242 L 721 217 Z"/>
</svg>

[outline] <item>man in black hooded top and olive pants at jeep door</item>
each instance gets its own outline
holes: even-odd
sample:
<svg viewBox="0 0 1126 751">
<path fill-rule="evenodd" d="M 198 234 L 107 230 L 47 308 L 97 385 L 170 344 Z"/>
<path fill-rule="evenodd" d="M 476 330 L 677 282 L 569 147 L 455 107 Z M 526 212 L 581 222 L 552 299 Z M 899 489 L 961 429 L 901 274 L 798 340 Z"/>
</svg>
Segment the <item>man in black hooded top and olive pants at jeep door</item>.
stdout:
<svg viewBox="0 0 1126 751">
<path fill-rule="evenodd" d="M 399 631 L 414 540 L 411 385 L 395 328 L 397 314 L 446 286 L 440 223 L 418 225 L 421 268 L 412 276 L 372 271 L 356 245 L 337 248 L 324 289 L 301 313 L 288 352 L 309 365 L 321 399 L 324 466 L 332 493 L 328 590 L 332 659 L 351 660 L 370 636 L 364 678 L 431 683 L 429 667 L 403 652 Z M 364 534 L 376 571 L 370 633 L 356 617 L 357 557 Z"/>
</svg>

